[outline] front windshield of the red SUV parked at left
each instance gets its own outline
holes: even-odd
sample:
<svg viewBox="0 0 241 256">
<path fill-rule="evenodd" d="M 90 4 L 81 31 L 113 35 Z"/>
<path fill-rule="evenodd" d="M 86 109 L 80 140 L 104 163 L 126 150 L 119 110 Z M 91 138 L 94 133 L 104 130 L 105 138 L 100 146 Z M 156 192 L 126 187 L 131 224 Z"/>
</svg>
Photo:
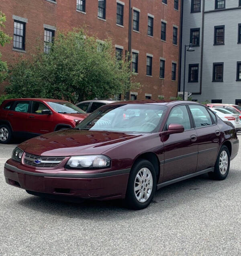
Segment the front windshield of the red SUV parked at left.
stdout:
<svg viewBox="0 0 241 256">
<path fill-rule="evenodd" d="M 60 114 L 85 114 L 86 112 L 67 101 L 47 102 L 57 113 Z"/>
</svg>

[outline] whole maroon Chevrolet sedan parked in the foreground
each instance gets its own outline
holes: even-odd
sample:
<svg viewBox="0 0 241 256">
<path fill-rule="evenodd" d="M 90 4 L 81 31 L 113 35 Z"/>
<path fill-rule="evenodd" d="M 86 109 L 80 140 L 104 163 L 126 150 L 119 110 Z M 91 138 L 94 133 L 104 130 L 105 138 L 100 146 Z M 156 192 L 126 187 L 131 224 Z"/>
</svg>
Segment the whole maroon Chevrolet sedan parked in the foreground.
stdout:
<svg viewBox="0 0 241 256">
<path fill-rule="evenodd" d="M 6 182 L 38 196 L 125 199 L 147 207 L 156 189 L 208 173 L 224 180 L 239 149 L 235 129 L 189 101 L 104 105 L 76 128 L 16 147 Z"/>
</svg>

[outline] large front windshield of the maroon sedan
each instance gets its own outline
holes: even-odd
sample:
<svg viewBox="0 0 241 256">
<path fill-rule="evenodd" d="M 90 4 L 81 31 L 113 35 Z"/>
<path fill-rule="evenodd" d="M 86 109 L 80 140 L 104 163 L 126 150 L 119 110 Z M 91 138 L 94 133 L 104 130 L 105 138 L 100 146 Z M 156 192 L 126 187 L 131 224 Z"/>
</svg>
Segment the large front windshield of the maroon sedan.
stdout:
<svg viewBox="0 0 241 256">
<path fill-rule="evenodd" d="M 159 128 L 167 107 L 151 104 L 104 105 L 84 119 L 76 129 L 149 133 Z"/>
</svg>

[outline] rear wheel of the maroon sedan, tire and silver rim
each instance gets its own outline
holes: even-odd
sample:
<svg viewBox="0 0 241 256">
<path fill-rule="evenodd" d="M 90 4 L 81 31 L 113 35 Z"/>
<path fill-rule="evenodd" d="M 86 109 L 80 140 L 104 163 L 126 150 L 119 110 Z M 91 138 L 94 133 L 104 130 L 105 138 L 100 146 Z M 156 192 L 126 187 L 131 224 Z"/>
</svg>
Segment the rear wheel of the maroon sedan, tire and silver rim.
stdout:
<svg viewBox="0 0 241 256">
<path fill-rule="evenodd" d="M 230 167 L 230 154 L 229 149 L 223 145 L 219 151 L 215 166 L 214 172 L 208 173 L 210 178 L 215 180 L 224 180 L 229 174 Z"/>
</svg>

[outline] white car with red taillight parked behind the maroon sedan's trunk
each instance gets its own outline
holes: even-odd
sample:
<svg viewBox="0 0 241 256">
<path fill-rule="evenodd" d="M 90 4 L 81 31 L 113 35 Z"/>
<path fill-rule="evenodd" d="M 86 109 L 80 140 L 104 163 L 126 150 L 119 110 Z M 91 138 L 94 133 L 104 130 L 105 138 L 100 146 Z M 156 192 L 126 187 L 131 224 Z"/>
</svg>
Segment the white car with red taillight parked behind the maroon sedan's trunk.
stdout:
<svg viewBox="0 0 241 256">
<path fill-rule="evenodd" d="M 239 118 L 239 114 L 233 114 L 225 108 L 211 108 L 211 110 L 223 121 L 228 121 L 233 124 L 237 131 L 241 130 L 241 120 Z"/>
</svg>

